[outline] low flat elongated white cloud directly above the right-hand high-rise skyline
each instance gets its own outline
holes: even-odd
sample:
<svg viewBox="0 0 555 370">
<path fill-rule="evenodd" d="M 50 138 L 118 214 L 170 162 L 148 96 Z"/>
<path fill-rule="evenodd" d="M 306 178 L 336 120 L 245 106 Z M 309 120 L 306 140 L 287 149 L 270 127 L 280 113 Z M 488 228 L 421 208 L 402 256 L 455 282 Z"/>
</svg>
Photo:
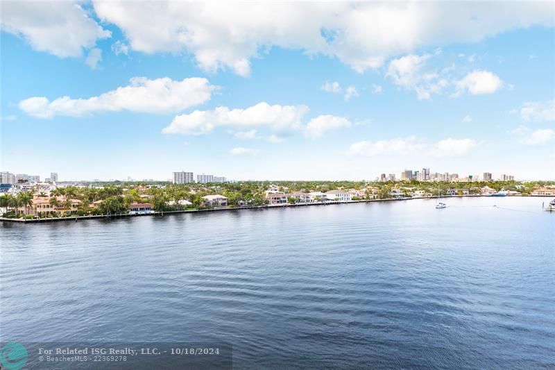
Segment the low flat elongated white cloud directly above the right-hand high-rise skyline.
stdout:
<svg viewBox="0 0 555 370">
<path fill-rule="evenodd" d="M 396 138 L 391 140 L 379 140 L 373 142 L 365 140 L 352 144 L 347 153 L 349 155 L 373 156 L 373 155 L 414 155 L 416 153 L 427 153 L 427 155 L 451 156 L 463 155 L 477 145 L 471 139 L 445 139 L 435 144 L 425 144 L 414 136 Z"/>
</svg>

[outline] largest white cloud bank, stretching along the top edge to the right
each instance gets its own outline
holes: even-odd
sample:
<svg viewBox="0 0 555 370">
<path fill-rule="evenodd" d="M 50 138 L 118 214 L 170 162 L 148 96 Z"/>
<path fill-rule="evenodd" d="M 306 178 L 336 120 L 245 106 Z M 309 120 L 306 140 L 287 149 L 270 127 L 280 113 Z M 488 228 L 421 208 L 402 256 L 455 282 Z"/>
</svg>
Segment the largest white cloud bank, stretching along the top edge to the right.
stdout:
<svg viewBox="0 0 555 370">
<path fill-rule="evenodd" d="M 206 71 L 228 68 L 241 76 L 250 74 L 250 58 L 271 47 L 335 57 L 364 72 L 416 49 L 554 24 L 549 2 L 93 3 L 103 21 L 121 28 L 133 50 L 187 52 Z"/>
</svg>

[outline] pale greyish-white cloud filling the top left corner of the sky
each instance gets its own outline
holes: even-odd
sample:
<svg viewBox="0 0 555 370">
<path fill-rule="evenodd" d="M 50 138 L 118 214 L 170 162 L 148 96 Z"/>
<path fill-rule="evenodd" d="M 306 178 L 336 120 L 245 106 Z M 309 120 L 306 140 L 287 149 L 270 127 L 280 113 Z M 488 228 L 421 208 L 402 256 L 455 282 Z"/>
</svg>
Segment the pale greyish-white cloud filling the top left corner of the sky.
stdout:
<svg viewBox="0 0 555 370">
<path fill-rule="evenodd" d="M 80 57 L 111 35 L 77 1 L 2 1 L 0 21 L 2 31 L 60 58 Z"/>
</svg>

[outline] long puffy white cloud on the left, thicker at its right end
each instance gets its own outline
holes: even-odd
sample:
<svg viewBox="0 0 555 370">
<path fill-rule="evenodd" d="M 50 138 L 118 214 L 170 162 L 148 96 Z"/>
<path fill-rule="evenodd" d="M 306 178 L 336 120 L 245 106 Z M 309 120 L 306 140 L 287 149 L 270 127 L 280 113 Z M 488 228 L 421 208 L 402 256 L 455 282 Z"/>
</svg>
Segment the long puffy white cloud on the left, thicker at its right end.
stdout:
<svg viewBox="0 0 555 370">
<path fill-rule="evenodd" d="M 55 115 L 80 117 L 96 112 L 171 113 L 180 112 L 191 106 L 209 101 L 218 87 L 210 85 L 206 78 L 185 78 L 173 81 L 171 78 L 148 80 L 145 77 L 130 79 L 130 85 L 118 87 L 100 96 L 88 99 L 71 99 L 62 96 L 54 101 L 35 96 L 19 102 L 19 108 L 38 118 Z"/>
</svg>

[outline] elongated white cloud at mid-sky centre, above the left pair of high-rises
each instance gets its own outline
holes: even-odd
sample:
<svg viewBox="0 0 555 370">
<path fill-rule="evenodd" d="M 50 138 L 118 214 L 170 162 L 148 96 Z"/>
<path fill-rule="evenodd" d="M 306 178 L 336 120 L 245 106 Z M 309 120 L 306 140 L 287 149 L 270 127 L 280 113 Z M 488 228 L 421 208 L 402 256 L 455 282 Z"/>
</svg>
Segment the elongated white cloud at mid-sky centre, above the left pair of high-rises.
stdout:
<svg viewBox="0 0 555 370">
<path fill-rule="evenodd" d="M 203 135 L 216 126 L 270 126 L 275 131 L 293 131 L 302 127 L 301 118 L 307 111 L 307 106 L 270 106 L 264 102 L 246 109 L 218 107 L 214 110 L 195 110 L 176 116 L 162 133 Z"/>
</svg>

